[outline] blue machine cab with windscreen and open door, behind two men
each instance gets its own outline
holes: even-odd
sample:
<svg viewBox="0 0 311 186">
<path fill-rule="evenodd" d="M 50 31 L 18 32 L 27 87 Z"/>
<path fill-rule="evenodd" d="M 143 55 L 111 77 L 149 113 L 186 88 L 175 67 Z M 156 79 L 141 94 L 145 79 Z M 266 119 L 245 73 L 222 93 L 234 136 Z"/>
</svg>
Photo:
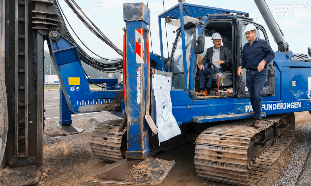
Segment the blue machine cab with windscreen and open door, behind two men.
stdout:
<svg viewBox="0 0 311 186">
<path fill-rule="evenodd" d="M 228 11 L 230 12 L 230 11 Z M 198 19 L 199 18 L 199 19 Z M 176 30 L 176 39 L 174 41 L 171 53 L 169 72 L 173 73 L 172 90 L 184 90 L 195 100 L 213 99 L 213 98 L 229 98 L 229 97 L 248 97 L 248 89 L 246 84 L 246 69 L 243 70 L 243 76 L 239 77 L 237 68 L 242 61 L 243 46 L 248 41 L 242 34 L 245 26 L 254 24 L 257 28 L 257 36 L 260 39 L 268 40 L 264 28 L 252 21 L 252 18 L 239 15 L 239 13 L 218 13 L 207 14 L 202 17 L 184 16 L 184 26 L 181 23 Z M 190 20 L 190 21 L 188 21 Z M 180 18 L 169 22 L 168 24 L 177 25 Z M 213 78 L 213 86 L 207 96 L 198 96 L 195 92 L 199 92 L 198 67 L 207 52 L 207 49 L 213 46 L 211 35 L 215 32 L 220 33 L 222 37 L 222 46 L 229 49 L 230 63 L 225 66 L 225 71 L 205 77 L 205 86 L 209 78 Z M 204 50 L 202 53 L 195 53 L 197 49 L 197 35 L 204 38 Z M 183 43 L 184 39 L 184 43 Z M 202 45 L 201 43 L 201 45 Z M 183 46 L 184 44 L 184 46 Z M 208 64 L 205 65 L 207 67 Z M 263 88 L 262 96 L 271 96 L 275 94 L 276 77 L 273 60 L 268 63 L 267 82 Z"/>
</svg>

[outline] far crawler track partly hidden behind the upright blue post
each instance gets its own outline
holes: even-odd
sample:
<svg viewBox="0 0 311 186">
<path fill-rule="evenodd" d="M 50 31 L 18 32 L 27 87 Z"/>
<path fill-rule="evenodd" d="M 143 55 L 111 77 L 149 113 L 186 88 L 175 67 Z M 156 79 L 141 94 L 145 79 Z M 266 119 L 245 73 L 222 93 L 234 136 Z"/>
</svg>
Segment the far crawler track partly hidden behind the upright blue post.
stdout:
<svg viewBox="0 0 311 186">
<path fill-rule="evenodd" d="M 126 129 L 124 129 L 121 133 L 118 132 L 121 122 L 122 119 L 105 121 L 97 125 L 93 130 L 93 133 L 91 134 L 90 147 L 95 157 L 109 162 L 116 162 L 124 159 L 124 152 L 126 150 L 126 137 L 124 134 Z M 159 146 L 157 136 L 150 135 L 150 155 L 153 157 L 165 151 L 169 151 L 178 146 L 192 142 L 198 135 L 199 134 L 178 135 L 162 142 L 161 146 Z"/>
</svg>

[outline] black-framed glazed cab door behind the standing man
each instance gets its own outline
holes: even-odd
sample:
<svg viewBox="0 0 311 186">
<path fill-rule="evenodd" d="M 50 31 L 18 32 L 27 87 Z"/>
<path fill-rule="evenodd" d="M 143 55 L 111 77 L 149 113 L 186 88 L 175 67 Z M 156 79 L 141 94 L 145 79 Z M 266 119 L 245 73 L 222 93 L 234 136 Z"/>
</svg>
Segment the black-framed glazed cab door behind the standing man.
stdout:
<svg viewBox="0 0 311 186">
<path fill-rule="evenodd" d="M 248 42 L 248 40 L 246 40 L 245 34 L 242 34 L 242 32 L 244 31 L 246 25 L 248 24 L 253 24 L 256 27 L 256 36 L 259 39 L 263 39 L 263 40 L 268 40 L 267 34 L 265 29 L 260 26 L 257 25 L 256 23 L 253 22 L 247 22 L 247 21 L 240 21 L 240 29 L 239 29 L 239 35 L 240 35 L 240 55 L 239 55 L 239 63 L 238 63 L 238 67 L 239 64 L 242 62 L 242 51 L 243 51 L 243 46 L 244 44 L 246 44 Z M 270 61 L 267 62 L 267 70 L 268 70 L 268 76 L 267 76 L 267 81 L 262 89 L 262 96 L 271 96 L 275 94 L 275 87 L 276 87 L 276 78 L 275 78 L 275 68 L 274 68 L 274 61 Z M 246 83 L 246 69 L 243 69 L 243 75 L 242 77 L 238 76 L 238 83 L 239 83 L 239 88 L 238 88 L 238 97 L 248 97 L 248 88 L 247 88 L 247 83 Z"/>
</svg>

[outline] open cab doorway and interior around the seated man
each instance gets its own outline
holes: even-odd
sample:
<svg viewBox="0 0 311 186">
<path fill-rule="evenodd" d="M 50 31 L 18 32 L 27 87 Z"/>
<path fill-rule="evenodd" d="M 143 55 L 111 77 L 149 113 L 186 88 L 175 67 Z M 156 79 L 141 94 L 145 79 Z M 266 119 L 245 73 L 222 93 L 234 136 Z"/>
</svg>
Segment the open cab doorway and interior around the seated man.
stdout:
<svg viewBox="0 0 311 186">
<path fill-rule="evenodd" d="M 195 67 L 195 92 L 197 95 L 197 99 L 208 99 L 215 97 L 228 97 L 233 94 L 234 83 L 233 83 L 233 63 L 235 61 L 233 55 L 233 24 L 232 21 L 222 20 L 222 21 L 210 21 L 205 24 L 203 29 L 203 33 L 205 37 L 205 46 L 204 52 L 202 54 L 196 54 L 196 67 Z M 210 87 L 209 94 L 207 96 L 198 94 L 200 92 L 200 84 L 199 84 L 199 66 L 201 65 L 201 61 L 204 58 L 207 49 L 213 47 L 211 36 L 213 33 L 219 33 L 222 37 L 221 47 L 225 47 L 229 49 L 229 64 L 225 65 L 225 71 L 219 73 L 219 77 L 214 77 L 213 75 L 205 76 L 204 87 L 206 88 L 207 82 L 210 78 L 213 78 L 213 85 Z M 236 63 L 236 62 L 235 62 Z M 208 63 L 204 65 L 204 68 L 208 66 Z M 211 65 L 212 66 L 212 65 Z M 202 81 L 202 80 L 201 80 Z M 221 93 L 220 93 L 221 90 Z"/>
</svg>

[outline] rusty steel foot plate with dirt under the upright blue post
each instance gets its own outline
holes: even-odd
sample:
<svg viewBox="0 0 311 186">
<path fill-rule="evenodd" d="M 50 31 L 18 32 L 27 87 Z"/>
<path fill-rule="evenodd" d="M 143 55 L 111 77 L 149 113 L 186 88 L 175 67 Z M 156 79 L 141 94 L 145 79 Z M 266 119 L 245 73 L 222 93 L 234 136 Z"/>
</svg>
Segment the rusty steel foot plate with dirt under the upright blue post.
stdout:
<svg viewBox="0 0 311 186">
<path fill-rule="evenodd" d="M 166 161 L 153 157 L 144 160 L 124 159 L 105 166 L 86 181 L 114 184 L 156 185 L 160 184 L 175 161 Z"/>
</svg>

